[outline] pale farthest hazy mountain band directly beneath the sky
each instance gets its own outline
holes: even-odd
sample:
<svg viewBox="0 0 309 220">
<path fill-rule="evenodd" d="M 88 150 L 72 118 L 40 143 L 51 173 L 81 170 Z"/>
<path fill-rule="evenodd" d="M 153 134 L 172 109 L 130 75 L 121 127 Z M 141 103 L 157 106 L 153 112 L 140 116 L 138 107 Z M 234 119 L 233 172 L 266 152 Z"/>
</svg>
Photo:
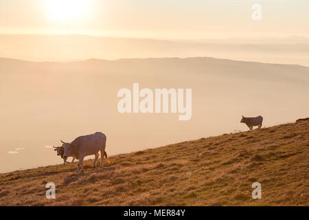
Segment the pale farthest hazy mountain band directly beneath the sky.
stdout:
<svg viewBox="0 0 309 220">
<path fill-rule="evenodd" d="M 309 40 L 297 36 L 185 41 L 87 35 L 0 35 L 0 57 L 29 61 L 194 56 L 309 66 Z"/>
</svg>

